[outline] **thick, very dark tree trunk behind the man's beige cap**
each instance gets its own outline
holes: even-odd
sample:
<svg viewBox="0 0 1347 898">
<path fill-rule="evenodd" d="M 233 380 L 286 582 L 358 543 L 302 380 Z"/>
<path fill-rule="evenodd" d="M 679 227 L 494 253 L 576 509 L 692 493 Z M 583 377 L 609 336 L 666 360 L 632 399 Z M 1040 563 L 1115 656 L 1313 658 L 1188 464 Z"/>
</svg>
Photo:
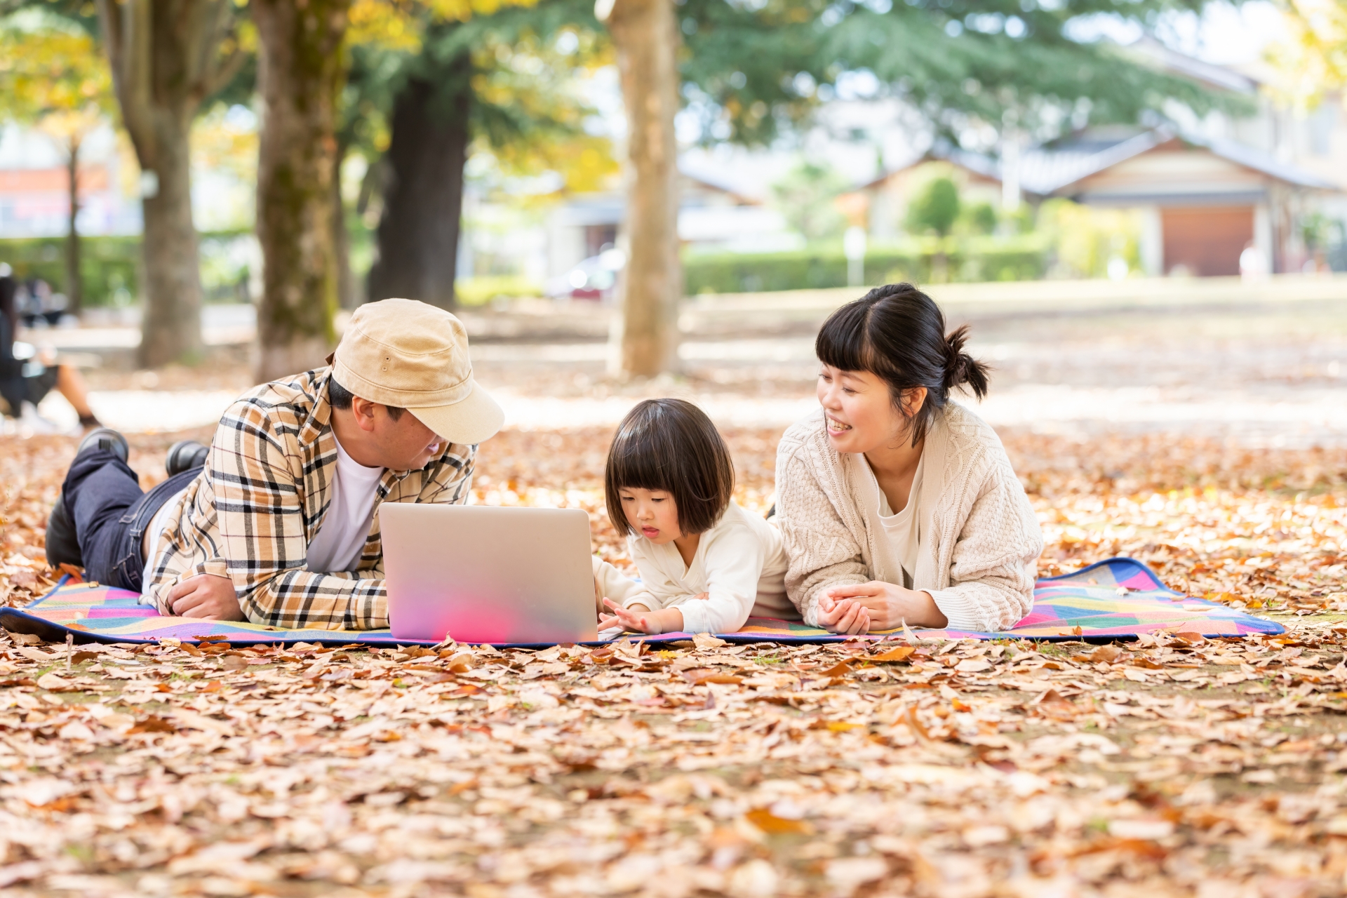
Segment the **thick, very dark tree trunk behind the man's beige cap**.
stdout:
<svg viewBox="0 0 1347 898">
<path fill-rule="evenodd" d="M 471 105 L 471 58 L 462 54 L 407 82 L 393 105 L 385 159 L 389 186 L 379 219 L 379 261 L 369 299 L 400 296 L 453 308 L 463 163 Z"/>
</svg>

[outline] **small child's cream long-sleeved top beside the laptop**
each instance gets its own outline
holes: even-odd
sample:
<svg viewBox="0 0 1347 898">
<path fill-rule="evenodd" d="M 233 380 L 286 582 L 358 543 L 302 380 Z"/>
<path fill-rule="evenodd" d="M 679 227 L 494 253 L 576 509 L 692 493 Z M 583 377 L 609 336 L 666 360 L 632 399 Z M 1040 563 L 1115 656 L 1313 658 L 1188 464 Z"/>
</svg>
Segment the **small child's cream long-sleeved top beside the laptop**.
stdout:
<svg viewBox="0 0 1347 898">
<path fill-rule="evenodd" d="M 626 537 L 641 575 L 637 583 L 612 564 L 595 564 L 603 595 L 622 607 L 676 607 L 686 633 L 734 633 L 750 617 L 799 619 L 785 595 L 785 551 L 781 533 L 757 514 L 730 502 L 702 534 L 691 564 L 672 541 L 656 545 L 644 536 Z M 709 598 L 696 599 L 702 592 Z"/>
</svg>

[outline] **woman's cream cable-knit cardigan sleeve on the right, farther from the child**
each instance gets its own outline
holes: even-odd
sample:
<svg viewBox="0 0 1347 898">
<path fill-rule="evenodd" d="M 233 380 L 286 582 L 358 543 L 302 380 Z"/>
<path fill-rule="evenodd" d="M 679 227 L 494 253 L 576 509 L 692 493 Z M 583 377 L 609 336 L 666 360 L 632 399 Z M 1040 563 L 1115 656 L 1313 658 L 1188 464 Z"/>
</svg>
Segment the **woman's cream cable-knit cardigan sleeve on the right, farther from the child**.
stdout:
<svg viewBox="0 0 1347 898">
<path fill-rule="evenodd" d="M 952 547 L 950 586 L 931 591 L 951 630 L 1008 630 L 1033 609 L 1043 530 L 1004 451 L 990 462 Z"/>
</svg>

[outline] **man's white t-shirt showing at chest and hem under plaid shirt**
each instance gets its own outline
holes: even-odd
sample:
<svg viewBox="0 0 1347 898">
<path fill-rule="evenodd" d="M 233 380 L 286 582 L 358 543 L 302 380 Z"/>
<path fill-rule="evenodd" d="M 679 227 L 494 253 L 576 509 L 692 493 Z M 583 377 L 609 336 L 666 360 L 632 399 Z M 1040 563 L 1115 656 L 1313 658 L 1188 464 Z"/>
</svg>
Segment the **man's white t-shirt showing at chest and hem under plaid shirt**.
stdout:
<svg viewBox="0 0 1347 898">
<path fill-rule="evenodd" d="M 335 438 L 334 434 L 334 442 L 337 442 Z M 374 494 L 379 491 L 379 482 L 383 477 L 384 469 L 365 467 L 348 455 L 346 450 L 337 442 L 337 467 L 329 487 L 331 504 L 327 506 L 327 516 L 319 525 L 318 533 L 308 544 L 308 560 L 304 563 L 304 569 L 334 574 L 337 571 L 354 571 L 360 567 L 360 556 L 365 548 L 365 540 L 369 537 L 370 520 L 374 513 Z M 168 514 L 178 509 L 186 491 L 183 489 L 174 493 L 150 518 L 147 528 L 150 551 L 145 552 L 141 584 L 150 582 L 150 575 L 155 569 L 155 561 L 158 561 L 159 537 L 163 536 Z"/>
</svg>

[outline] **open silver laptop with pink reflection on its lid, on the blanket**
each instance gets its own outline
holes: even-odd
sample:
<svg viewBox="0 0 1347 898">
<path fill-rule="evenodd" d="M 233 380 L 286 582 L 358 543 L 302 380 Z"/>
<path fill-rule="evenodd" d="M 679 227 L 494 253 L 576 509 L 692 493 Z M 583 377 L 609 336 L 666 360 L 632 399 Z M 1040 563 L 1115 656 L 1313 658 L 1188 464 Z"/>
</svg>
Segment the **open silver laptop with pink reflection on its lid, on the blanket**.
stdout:
<svg viewBox="0 0 1347 898">
<path fill-rule="evenodd" d="M 385 502 L 379 521 L 393 638 L 597 638 L 583 510 Z"/>
</svg>

